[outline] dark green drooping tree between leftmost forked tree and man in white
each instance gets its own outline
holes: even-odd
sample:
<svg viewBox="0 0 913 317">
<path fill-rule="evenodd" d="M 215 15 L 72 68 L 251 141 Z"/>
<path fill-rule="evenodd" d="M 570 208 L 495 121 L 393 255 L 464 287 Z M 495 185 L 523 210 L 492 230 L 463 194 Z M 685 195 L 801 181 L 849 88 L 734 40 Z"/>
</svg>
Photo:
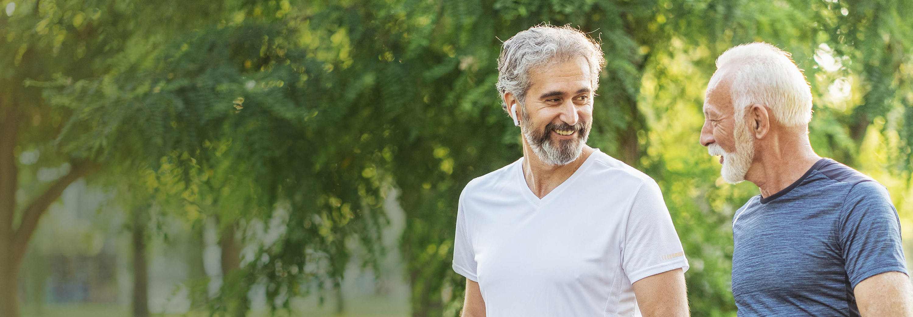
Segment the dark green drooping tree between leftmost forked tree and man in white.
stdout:
<svg viewBox="0 0 913 317">
<path fill-rule="evenodd" d="M 223 287 L 210 301 L 214 312 L 245 313 L 247 291 L 261 280 L 270 302 L 288 307 L 301 284 L 338 286 L 351 238 L 378 248 L 384 174 L 373 162 L 383 153 L 370 147 L 370 135 L 336 124 L 346 109 L 337 111 L 338 93 L 330 88 L 342 78 L 327 71 L 352 62 L 338 58 L 344 56 L 338 46 L 309 48 L 306 19 L 268 23 L 288 11 L 287 4 L 242 8 L 229 23 L 176 37 L 148 65 L 46 90 L 60 107 L 105 113 L 100 121 L 110 127 L 74 120 L 61 139 L 81 143 L 93 132 L 95 143 L 134 143 L 100 148 L 98 155 L 115 161 L 167 156 L 184 171 L 182 195 L 204 194 L 187 200 L 213 207 L 210 215 L 227 223 L 226 236 L 234 236 L 236 220 L 268 219 L 276 206 L 289 208 L 283 238 L 254 257 L 263 261 L 225 266 Z M 331 58 L 322 57 L 324 49 Z M 369 114 L 358 116 L 369 122 Z M 327 146 L 333 139 L 337 146 Z M 369 147 L 353 153 L 359 144 Z M 365 265 L 376 266 L 376 258 Z"/>
</svg>

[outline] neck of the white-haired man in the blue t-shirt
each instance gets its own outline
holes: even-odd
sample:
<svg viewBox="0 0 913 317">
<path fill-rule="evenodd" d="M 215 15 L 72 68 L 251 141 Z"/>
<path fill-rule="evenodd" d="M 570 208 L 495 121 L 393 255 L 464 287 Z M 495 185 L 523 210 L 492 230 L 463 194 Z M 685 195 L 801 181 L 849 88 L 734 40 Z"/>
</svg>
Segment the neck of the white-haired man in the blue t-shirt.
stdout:
<svg viewBox="0 0 913 317">
<path fill-rule="evenodd" d="M 792 185 L 821 159 L 804 133 L 792 138 L 771 133 L 769 138 L 757 143 L 754 160 L 745 174 L 745 180 L 758 185 L 762 197 Z"/>
</svg>

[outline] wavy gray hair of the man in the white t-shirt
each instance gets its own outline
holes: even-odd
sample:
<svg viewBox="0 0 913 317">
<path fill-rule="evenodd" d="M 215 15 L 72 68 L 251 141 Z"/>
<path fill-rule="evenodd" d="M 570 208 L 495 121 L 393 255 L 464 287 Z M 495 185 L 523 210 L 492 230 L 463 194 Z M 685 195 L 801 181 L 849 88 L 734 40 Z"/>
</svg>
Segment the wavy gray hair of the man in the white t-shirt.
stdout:
<svg viewBox="0 0 913 317">
<path fill-rule="evenodd" d="M 590 79 L 595 91 L 599 88 L 599 71 L 605 64 L 603 49 L 599 47 L 598 42 L 580 30 L 570 25 L 543 24 L 532 26 L 504 41 L 498 58 L 496 84 L 501 96 L 501 108 L 505 112 L 508 111 L 508 105 L 504 100 L 504 94 L 507 92 L 512 93 L 517 102 L 523 105 L 526 92 L 532 86 L 530 69 L 578 56 L 586 58 L 590 64 Z"/>
</svg>

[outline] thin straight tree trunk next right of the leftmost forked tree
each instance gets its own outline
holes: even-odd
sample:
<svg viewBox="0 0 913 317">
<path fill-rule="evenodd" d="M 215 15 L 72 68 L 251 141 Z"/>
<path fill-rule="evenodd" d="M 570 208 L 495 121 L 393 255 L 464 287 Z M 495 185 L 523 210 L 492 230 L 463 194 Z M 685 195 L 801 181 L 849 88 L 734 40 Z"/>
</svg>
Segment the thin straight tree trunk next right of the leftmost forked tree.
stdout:
<svg viewBox="0 0 913 317">
<path fill-rule="evenodd" d="M 149 271 L 146 268 L 144 207 L 133 210 L 133 317 L 149 317 Z"/>
</svg>

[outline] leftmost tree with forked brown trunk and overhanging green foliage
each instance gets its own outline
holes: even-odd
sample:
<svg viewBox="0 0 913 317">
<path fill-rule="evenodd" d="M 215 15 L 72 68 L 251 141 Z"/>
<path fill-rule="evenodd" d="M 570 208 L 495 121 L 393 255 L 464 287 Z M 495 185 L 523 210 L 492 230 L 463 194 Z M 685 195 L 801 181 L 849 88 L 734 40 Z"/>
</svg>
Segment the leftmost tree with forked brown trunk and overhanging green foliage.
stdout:
<svg viewBox="0 0 913 317">
<path fill-rule="evenodd" d="M 61 80 L 135 69 L 155 51 L 155 43 L 191 28 L 201 20 L 195 17 L 207 17 L 225 5 L 194 5 L 180 11 L 194 18 L 155 23 L 164 19 L 161 7 L 175 11 L 176 4 L 58 0 L 5 5 L 5 16 L 0 15 L 0 33 L 6 39 L 0 48 L 0 312 L 18 315 L 16 276 L 28 240 L 47 206 L 74 180 L 99 170 L 100 162 L 131 153 L 120 147 L 120 155 L 113 155 L 117 153 L 113 146 L 94 138 L 110 126 L 89 124 L 91 129 L 82 134 L 68 131 L 72 126 L 68 122 L 100 123 L 104 114 L 52 106 L 54 102 L 45 98 L 43 89 L 57 86 Z M 63 134 L 73 138 L 64 140 Z M 26 152 L 37 157 L 37 162 L 19 164 Z M 42 181 L 32 176 L 38 168 L 58 166 L 64 173 L 57 179 Z"/>
</svg>

